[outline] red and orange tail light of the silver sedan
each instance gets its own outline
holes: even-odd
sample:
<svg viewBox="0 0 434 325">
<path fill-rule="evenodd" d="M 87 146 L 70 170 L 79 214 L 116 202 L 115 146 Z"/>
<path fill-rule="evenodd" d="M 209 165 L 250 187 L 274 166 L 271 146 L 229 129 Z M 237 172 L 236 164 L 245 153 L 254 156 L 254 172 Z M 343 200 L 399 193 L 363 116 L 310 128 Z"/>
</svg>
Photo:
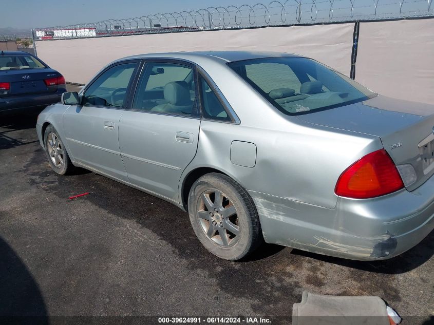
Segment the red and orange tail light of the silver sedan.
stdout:
<svg viewBox="0 0 434 325">
<path fill-rule="evenodd" d="M 386 150 L 362 157 L 339 176 L 334 192 L 354 199 L 368 199 L 395 192 L 404 187 L 397 167 Z"/>
</svg>

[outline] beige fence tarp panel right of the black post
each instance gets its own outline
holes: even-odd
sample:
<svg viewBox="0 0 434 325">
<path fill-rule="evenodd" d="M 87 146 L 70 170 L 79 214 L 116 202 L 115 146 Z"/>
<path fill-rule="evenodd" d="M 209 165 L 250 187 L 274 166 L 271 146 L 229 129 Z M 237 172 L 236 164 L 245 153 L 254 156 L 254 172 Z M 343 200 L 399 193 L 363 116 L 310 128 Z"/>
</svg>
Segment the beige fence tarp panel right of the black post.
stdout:
<svg viewBox="0 0 434 325">
<path fill-rule="evenodd" d="M 433 31 L 434 19 L 360 23 L 355 80 L 383 95 L 434 104 Z"/>
</svg>

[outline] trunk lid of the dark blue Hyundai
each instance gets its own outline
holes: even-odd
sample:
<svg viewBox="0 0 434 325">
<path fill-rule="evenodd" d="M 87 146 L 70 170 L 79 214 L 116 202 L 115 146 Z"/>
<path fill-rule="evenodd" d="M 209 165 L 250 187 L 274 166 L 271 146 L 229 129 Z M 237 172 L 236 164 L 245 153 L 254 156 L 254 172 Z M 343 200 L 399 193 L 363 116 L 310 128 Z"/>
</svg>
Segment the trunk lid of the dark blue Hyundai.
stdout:
<svg viewBox="0 0 434 325">
<path fill-rule="evenodd" d="M 47 86 L 44 80 L 60 76 L 59 72 L 50 68 L 2 70 L 0 74 L 2 82 L 11 84 L 7 95 L 55 92 L 57 86 Z"/>
</svg>

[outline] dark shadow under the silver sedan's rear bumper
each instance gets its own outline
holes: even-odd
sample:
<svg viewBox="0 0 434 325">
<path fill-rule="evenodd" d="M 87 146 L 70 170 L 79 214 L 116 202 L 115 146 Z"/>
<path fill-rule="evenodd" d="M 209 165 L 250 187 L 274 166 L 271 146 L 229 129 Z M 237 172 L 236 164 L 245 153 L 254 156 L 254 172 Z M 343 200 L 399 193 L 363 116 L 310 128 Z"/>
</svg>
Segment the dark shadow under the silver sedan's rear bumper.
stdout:
<svg viewBox="0 0 434 325">
<path fill-rule="evenodd" d="M 426 236 L 418 245 L 407 252 L 388 260 L 353 261 L 343 258 L 320 255 L 300 250 L 292 250 L 291 254 L 306 256 L 316 260 L 333 263 L 374 273 L 402 274 L 416 269 L 434 255 L 434 231 Z"/>
</svg>

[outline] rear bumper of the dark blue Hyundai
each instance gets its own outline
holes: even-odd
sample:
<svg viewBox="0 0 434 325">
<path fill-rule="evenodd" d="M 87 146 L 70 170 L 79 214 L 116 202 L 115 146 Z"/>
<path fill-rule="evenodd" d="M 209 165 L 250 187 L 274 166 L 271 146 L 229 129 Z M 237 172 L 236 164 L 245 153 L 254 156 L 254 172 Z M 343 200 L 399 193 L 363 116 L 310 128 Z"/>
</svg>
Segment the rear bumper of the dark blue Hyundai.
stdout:
<svg viewBox="0 0 434 325">
<path fill-rule="evenodd" d="M 58 87 L 56 92 L 23 94 L 0 98 L 0 114 L 14 113 L 16 111 L 32 111 L 44 108 L 47 105 L 58 103 L 62 93 L 66 92 L 64 86 Z"/>
</svg>

